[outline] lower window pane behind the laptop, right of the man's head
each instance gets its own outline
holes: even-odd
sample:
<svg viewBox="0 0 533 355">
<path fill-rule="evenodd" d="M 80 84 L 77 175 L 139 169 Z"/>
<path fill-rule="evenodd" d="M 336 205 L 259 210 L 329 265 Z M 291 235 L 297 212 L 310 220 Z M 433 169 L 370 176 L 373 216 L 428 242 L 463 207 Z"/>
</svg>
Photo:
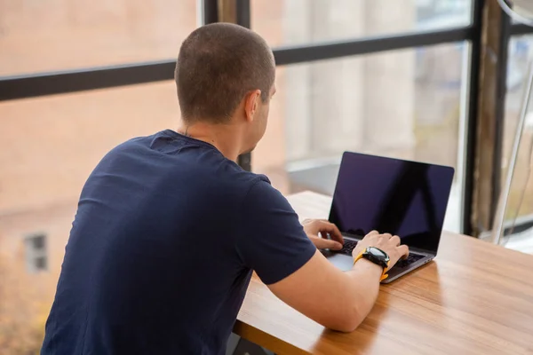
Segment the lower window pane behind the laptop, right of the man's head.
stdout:
<svg viewBox="0 0 533 355">
<path fill-rule="evenodd" d="M 457 168 L 446 228 L 460 229 L 465 43 L 277 69 L 252 167 L 284 193 L 332 194 L 345 150 Z"/>
</svg>

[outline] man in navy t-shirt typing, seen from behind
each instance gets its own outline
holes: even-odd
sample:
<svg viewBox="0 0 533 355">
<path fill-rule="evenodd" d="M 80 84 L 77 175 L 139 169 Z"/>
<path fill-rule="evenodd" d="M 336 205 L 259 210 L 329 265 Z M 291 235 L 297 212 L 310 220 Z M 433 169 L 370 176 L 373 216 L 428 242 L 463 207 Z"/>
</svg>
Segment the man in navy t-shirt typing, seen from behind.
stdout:
<svg viewBox="0 0 533 355">
<path fill-rule="evenodd" d="M 317 249 L 342 248 L 338 228 L 300 225 L 267 177 L 235 163 L 265 133 L 274 73 L 246 28 L 187 37 L 179 129 L 115 147 L 84 185 L 43 354 L 224 353 L 252 271 L 325 327 L 362 322 L 383 267 L 361 259 L 340 272 Z M 397 236 L 370 233 L 354 255 L 370 246 L 391 267 L 408 254 Z"/>
</svg>

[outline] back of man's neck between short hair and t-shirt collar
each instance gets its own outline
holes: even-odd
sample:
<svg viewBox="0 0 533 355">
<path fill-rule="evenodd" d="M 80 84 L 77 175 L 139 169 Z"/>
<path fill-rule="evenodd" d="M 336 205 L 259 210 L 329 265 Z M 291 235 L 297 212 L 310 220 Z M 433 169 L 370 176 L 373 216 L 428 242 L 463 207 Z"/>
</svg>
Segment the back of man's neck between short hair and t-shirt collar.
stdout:
<svg viewBox="0 0 533 355">
<path fill-rule="evenodd" d="M 178 133 L 209 143 L 219 149 L 227 159 L 236 162 L 240 151 L 240 139 L 235 137 L 235 130 L 230 124 L 182 123 Z"/>
</svg>

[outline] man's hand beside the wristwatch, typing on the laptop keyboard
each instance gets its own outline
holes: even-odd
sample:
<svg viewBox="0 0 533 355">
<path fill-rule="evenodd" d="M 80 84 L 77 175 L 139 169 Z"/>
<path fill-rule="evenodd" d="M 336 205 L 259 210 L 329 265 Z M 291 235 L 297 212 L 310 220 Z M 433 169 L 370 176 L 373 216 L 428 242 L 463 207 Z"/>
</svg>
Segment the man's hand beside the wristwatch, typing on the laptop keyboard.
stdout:
<svg viewBox="0 0 533 355">
<path fill-rule="evenodd" d="M 372 231 L 367 234 L 366 237 L 357 243 L 357 247 L 354 248 L 352 256 L 357 257 L 363 250 L 368 247 L 380 248 L 385 251 L 391 259 L 389 263 L 389 269 L 392 268 L 398 260 L 409 256 L 409 248 L 407 245 L 401 245 L 402 241 L 397 235 L 389 233 L 379 234 L 378 231 Z"/>
</svg>

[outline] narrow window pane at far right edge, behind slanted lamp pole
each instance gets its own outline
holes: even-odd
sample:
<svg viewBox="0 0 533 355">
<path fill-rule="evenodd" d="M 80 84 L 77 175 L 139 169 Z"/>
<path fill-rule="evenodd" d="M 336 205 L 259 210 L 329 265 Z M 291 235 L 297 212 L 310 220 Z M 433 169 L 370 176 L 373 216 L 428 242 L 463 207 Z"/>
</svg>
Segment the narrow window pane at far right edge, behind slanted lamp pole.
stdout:
<svg viewBox="0 0 533 355">
<path fill-rule="evenodd" d="M 528 63 L 533 57 L 533 36 L 513 37 L 509 43 L 507 68 L 507 96 L 505 99 L 504 152 L 502 157 L 502 185 L 505 184 L 507 168 L 513 149 L 516 128 L 519 120 L 525 85 L 527 83 Z M 533 111 L 531 106 L 521 133 L 521 146 L 514 169 L 511 191 L 507 200 L 505 218 L 508 225 L 521 225 L 533 218 L 533 177 L 530 176 L 531 147 L 533 145 Z M 516 232 L 516 230 L 510 230 Z M 523 237 L 523 238 L 522 238 Z M 521 244 L 524 241 L 526 244 Z M 513 237 L 507 244 L 511 248 L 533 252 L 533 230 Z M 522 248 L 523 247 L 523 248 Z M 529 249 L 527 249 L 529 248 Z"/>
</svg>

